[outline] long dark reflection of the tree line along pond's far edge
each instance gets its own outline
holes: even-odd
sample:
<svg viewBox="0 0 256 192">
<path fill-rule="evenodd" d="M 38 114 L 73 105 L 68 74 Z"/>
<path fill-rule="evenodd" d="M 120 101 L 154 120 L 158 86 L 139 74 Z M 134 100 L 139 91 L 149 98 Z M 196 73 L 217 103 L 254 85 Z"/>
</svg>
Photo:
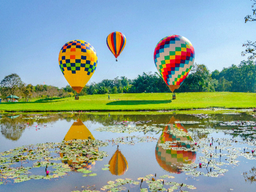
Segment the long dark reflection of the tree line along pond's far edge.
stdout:
<svg viewBox="0 0 256 192">
<path fill-rule="evenodd" d="M 13 114 L 14 115 L 14 114 Z M 152 124 L 166 124 L 166 119 L 170 119 L 172 115 L 170 114 L 163 114 L 159 113 L 159 115 L 97 115 L 97 114 L 87 114 L 87 113 L 41 113 L 41 114 L 19 114 L 20 116 L 10 119 L 6 116 L 2 116 L 3 119 L 0 120 L 0 124 L 3 124 L 3 130 L 1 131 L 2 134 L 5 132 L 10 136 L 11 132 L 13 132 L 12 135 L 16 134 L 14 132 L 20 132 L 19 125 L 24 126 L 25 124 L 29 123 L 29 125 L 32 125 L 34 123 L 37 124 L 54 124 L 58 120 L 66 120 L 67 122 L 70 121 L 76 121 L 77 118 L 82 122 L 90 121 L 90 124 L 96 124 L 100 123 L 105 126 L 113 125 L 115 122 L 122 122 L 122 121 L 130 121 L 130 122 L 138 122 L 138 121 L 150 121 L 147 123 L 147 125 Z M 47 118 L 36 118 L 36 116 L 47 116 Z M 32 118 L 30 118 L 32 117 Z M 29 118 L 29 119 L 24 119 Z M 196 117 L 194 115 L 184 115 L 184 114 L 177 114 L 175 115 L 175 118 L 179 119 L 180 121 L 199 121 L 200 124 L 185 124 L 186 128 L 189 130 L 189 128 L 198 128 L 198 125 L 204 125 L 204 128 L 215 128 L 215 129 L 233 129 L 234 126 L 220 126 L 219 121 L 255 121 L 252 116 L 241 114 L 241 115 L 221 115 L 221 114 L 212 114 L 209 115 L 208 118 L 200 118 Z M 216 120 L 217 122 L 210 122 L 210 120 Z M 7 125 L 7 124 L 10 125 Z M 17 125 L 17 129 L 15 128 Z M 200 127 L 199 127 L 200 128 Z M 202 127 L 201 127 L 202 128 Z M 8 130 L 10 129 L 10 130 Z M 5 134 L 4 134 L 5 135 Z M 207 134 L 197 133 L 196 131 L 192 132 L 192 135 L 194 140 L 207 137 Z M 234 135 L 236 136 L 236 135 Z M 242 135 L 243 137 L 243 135 Z M 7 137 L 6 137 L 7 138 Z M 12 137 L 10 137 L 12 138 Z M 16 138 L 16 137 L 14 137 Z M 248 138 L 248 136 L 244 135 L 244 138 Z"/>
</svg>

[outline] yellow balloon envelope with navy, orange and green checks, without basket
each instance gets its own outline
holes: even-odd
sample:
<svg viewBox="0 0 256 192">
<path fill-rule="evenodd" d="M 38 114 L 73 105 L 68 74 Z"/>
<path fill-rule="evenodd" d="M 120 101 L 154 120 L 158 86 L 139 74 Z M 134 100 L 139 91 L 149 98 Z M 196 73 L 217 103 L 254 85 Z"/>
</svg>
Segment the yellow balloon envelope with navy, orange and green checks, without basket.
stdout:
<svg viewBox="0 0 256 192">
<path fill-rule="evenodd" d="M 60 70 L 69 85 L 81 92 L 97 67 L 98 57 L 91 44 L 73 40 L 64 44 L 59 53 Z"/>
</svg>

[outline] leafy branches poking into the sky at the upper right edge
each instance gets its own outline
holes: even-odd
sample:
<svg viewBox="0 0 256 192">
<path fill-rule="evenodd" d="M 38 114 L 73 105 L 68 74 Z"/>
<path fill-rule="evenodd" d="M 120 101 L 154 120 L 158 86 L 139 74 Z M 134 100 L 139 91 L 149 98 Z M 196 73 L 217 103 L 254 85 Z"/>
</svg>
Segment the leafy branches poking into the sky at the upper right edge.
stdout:
<svg viewBox="0 0 256 192">
<path fill-rule="evenodd" d="M 254 2 L 254 3 L 252 3 L 252 12 L 253 12 L 253 16 L 255 16 L 255 18 L 252 18 L 251 15 L 247 15 L 244 18 L 245 23 L 247 21 L 256 21 L 256 8 L 254 7 L 256 5 L 256 0 L 251 0 L 251 1 Z M 253 8 L 255 8 L 255 9 L 253 9 Z M 251 55 L 248 57 L 248 60 L 256 59 L 256 42 L 252 42 L 252 41 L 247 40 L 247 43 L 244 43 L 243 47 L 246 47 L 246 49 L 245 49 L 245 51 L 243 51 L 241 53 L 242 56 L 245 56 L 245 54 L 249 53 Z"/>
</svg>

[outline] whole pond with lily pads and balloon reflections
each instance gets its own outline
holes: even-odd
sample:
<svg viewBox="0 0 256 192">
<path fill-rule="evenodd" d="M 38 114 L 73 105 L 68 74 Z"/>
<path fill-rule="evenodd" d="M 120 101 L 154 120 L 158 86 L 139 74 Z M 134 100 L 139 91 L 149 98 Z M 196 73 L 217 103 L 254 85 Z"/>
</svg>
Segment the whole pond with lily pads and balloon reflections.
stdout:
<svg viewBox="0 0 256 192">
<path fill-rule="evenodd" d="M 0 191 L 255 191 L 255 122 L 235 110 L 0 114 Z"/>
</svg>

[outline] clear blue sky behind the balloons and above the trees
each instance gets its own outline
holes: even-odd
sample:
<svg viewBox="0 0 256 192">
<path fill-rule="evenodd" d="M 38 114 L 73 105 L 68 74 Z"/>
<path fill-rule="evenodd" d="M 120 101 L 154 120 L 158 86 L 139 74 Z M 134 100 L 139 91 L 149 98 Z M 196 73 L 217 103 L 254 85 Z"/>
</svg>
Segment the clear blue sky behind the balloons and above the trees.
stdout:
<svg viewBox="0 0 256 192">
<path fill-rule="evenodd" d="M 96 50 L 98 64 L 91 80 L 156 72 L 153 53 L 165 36 L 185 36 L 195 49 L 195 62 L 211 71 L 246 60 L 246 40 L 256 41 L 250 0 L 1 1 L 0 81 L 17 73 L 26 84 L 65 87 L 58 63 L 61 47 L 81 39 Z M 106 38 L 120 31 L 126 46 L 118 57 Z"/>
</svg>

